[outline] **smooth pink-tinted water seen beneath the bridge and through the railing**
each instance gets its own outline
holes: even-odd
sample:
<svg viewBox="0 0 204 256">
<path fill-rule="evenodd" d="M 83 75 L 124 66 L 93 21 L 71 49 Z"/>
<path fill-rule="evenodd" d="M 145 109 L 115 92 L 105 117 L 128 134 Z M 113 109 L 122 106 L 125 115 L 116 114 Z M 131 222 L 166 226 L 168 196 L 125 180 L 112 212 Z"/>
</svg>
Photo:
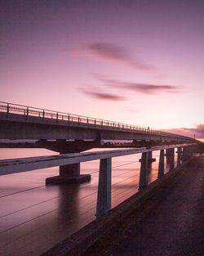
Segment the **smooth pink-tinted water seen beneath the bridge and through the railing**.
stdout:
<svg viewBox="0 0 204 256">
<path fill-rule="evenodd" d="M 95 149 L 99 150 L 99 149 Z M 1 149 L 0 158 L 55 155 L 42 149 Z M 149 168 L 149 182 L 157 178 L 157 159 Z M 112 207 L 138 191 L 140 154 L 112 159 Z M 0 254 L 37 256 L 95 219 L 99 160 L 81 164 L 91 182 L 46 186 L 46 177 L 58 169 L 0 176 Z M 166 171 L 168 164 L 166 164 Z"/>
</svg>

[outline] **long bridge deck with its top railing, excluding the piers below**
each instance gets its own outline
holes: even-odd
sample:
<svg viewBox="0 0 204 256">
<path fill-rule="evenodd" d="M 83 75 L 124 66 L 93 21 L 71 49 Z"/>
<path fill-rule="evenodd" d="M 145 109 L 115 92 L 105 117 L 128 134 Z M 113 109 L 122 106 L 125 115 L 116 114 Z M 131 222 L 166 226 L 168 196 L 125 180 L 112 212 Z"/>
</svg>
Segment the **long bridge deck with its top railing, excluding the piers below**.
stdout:
<svg viewBox="0 0 204 256">
<path fill-rule="evenodd" d="M 169 132 L 0 102 L 0 139 L 194 142 Z"/>
</svg>

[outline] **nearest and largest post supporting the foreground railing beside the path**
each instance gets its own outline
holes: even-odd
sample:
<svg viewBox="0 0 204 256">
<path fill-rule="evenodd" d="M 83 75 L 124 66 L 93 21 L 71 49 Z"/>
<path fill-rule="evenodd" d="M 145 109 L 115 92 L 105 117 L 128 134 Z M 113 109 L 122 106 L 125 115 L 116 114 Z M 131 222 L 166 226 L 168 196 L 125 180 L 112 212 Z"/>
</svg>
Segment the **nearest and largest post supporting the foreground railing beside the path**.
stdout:
<svg viewBox="0 0 204 256">
<path fill-rule="evenodd" d="M 111 209 L 111 158 L 100 159 L 96 216 L 103 216 L 109 209 Z"/>
</svg>

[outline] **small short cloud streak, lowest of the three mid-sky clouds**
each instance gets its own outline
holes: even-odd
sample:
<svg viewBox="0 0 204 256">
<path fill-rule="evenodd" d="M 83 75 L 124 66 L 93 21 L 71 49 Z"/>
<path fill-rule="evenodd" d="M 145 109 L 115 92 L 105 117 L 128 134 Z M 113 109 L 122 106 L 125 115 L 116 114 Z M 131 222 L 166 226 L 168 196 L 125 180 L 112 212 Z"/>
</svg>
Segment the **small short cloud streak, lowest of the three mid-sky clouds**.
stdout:
<svg viewBox="0 0 204 256">
<path fill-rule="evenodd" d="M 106 101 L 124 101 L 125 100 L 125 97 L 121 97 L 118 94 L 100 92 L 95 88 L 92 88 L 91 90 L 82 89 L 82 92 L 99 100 L 106 100 Z"/>
</svg>

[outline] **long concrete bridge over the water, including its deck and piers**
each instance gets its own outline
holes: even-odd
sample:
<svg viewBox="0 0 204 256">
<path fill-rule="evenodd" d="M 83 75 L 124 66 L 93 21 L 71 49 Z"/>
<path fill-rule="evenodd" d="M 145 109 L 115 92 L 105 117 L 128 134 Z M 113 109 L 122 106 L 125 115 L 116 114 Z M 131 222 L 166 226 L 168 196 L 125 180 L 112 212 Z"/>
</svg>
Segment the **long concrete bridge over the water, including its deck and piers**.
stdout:
<svg viewBox="0 0 204 256">
<path fill-rule="evenodd" d="M 151 128 L 103 119 L 71 115 L 53 110 L 0 102 L 0 147 L 46 148 L 60 154 L 78 153 L 95 147 L 148 147 L 195 143 L 195 139 Z M 15 140 L 35 140 L 15 142 Z M 104 140 L 128 140 L 115 145 Z M 153 160 L 151 152 L 149 161 Z M 60 175 L 47 182 L 90 180 L 80 175 L 80 163 L 60 165 Z"/>
</svg>

